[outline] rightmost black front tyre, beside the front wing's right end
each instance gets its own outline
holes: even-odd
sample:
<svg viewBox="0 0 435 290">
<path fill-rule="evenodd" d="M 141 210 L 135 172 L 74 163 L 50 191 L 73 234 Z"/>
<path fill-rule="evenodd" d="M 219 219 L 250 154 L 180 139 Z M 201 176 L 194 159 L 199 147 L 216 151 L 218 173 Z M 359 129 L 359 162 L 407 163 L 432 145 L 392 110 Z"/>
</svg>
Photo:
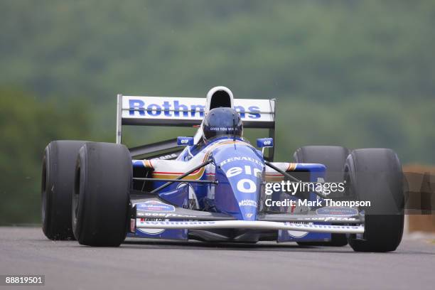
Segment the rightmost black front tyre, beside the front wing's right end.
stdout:
<svg viewBox="0 0 435 290">
<path fill-rule="evenodd" d="M 356 200 L 370 201 L 363 235 L 350 235 L 356 252 L 391 252 L 403 234 L 404 190 L 402 166 L 391 149 L 358 149 L 348 156 L 345 180 Z"/>
</svg>

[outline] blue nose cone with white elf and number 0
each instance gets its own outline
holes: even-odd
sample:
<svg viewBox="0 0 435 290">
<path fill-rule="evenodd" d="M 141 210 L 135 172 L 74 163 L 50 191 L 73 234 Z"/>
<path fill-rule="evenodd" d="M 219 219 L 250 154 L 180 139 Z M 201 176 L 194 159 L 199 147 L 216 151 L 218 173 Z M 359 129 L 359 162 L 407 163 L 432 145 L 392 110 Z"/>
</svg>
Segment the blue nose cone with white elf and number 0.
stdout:
<svg viewBox="0 0 435 290">
<path fill-rule="evenodd" d="M 262 159 L 251 146 L 235 146 L 234 142 L 216 149 L 213 156 L 219 166 L 215 190 L 218 208 L 239 220 L 256 220 Z"/>
</svg>

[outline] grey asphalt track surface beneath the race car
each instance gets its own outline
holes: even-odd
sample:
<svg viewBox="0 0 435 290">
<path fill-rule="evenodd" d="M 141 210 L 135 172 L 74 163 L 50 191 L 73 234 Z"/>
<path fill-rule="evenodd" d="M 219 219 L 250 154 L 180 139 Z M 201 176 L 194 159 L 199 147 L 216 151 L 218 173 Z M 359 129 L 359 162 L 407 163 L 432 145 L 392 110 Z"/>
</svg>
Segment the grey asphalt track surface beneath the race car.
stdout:
<svg viewBox="0 0 435 290">
<path fill-rule="evenodd" d="M 93 248 L 0 227 L 0 274 L 45 275 L 45 286 L 0 289 L 435 289 L 435 244 L 405 239 L 385 254 L 138 239 Z"/>
</svg>

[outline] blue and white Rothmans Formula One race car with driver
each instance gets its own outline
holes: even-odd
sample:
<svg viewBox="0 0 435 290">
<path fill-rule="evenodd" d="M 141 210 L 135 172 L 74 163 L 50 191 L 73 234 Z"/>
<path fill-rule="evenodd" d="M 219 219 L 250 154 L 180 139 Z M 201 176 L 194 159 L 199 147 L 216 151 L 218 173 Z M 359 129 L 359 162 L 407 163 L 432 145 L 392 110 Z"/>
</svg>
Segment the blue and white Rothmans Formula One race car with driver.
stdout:
<svg viewBox="0 0 435 290">
<path fill-rule="evenodd" d="M 118 95 L 116 143 L 45 148 L 45 236 L 109 247 L 145 237 L 394 251 L 404 225 L 397 154 L 304 146 L 294 160 L 274 162 L 275 111 L 276 100 L 234 99 L 227 87 L 204 99 Z M 126 125 L 198 130 L 128 149 Z M 245 128 L 269 136 L 254 146 Z"/>
</svg>

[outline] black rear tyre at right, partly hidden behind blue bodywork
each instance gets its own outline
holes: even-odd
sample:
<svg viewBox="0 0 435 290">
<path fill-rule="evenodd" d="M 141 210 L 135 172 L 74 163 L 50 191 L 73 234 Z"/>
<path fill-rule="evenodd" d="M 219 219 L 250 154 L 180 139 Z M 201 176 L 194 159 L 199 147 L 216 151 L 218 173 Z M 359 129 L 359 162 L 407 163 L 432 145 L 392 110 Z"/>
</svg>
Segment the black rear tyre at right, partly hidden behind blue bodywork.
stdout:
<svg viewBox="0 0 435 290">
<path fill-rule="evenodd" d="M 304 146 L 296 150 L 294 160 L 298 163 L 321 163 L 326 166 L 326 182 L 343 182 L 344 166 L 349 149 L 340 146 Z M 340 198 L 331 194 L 331 198 Z M 348 245 L 348 239 L 344 234 L 331 234 L 328 242 L 298 242 L 304 246 L 330 246 L 343 247 Z"/>
</svg>

